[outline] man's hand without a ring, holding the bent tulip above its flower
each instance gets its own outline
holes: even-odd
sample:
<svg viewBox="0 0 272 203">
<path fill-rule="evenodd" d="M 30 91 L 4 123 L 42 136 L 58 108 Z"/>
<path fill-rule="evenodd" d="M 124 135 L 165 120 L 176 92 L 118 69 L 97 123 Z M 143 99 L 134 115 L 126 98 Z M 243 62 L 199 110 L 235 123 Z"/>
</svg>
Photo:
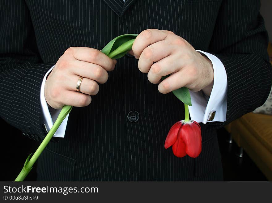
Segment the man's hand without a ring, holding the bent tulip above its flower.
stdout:
<svg viewBox="0 0 272 203">
<path fill-rule="evenodd" d="M 139 70 L 148 73 L 151 83 L 166 94 L 180 87 L 203 90 L 210 95 L 214 71 L 211 61 L 198 53 L 185 39 L 173 32 L 150 29 L 142 31 L 132 46 Z M 161 81 L 162 76 L 171 74 Z"/>
</svg>

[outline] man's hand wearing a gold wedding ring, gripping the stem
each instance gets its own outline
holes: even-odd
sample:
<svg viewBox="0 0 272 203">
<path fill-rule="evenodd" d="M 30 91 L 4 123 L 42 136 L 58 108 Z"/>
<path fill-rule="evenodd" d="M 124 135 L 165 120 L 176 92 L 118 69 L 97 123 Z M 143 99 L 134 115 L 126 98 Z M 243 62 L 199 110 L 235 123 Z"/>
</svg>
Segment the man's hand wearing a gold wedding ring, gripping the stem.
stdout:
<svg viewBox="0 0 272 203">
<path fill-rule="evenodd" d="M 99 91 L 98 83 L 108 80 L 107 71 L 114 69 L 112 60 L 97 49 L 70 47 L 59 58 L 45 82 L 46 102 L 55 109 L 64 105 L 83 107 L 91 103 L 91 96 Z M 76 91 L 79 77 L 84 77 L 80 92 Z"/>
</svg>

